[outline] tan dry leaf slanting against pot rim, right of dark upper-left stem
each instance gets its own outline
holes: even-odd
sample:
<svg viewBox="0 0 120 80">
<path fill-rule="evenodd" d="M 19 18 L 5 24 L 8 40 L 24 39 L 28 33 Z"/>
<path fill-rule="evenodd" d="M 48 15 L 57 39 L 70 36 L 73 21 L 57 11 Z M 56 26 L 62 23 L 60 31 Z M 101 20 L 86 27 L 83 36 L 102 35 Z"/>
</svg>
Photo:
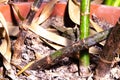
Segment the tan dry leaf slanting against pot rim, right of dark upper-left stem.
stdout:
<svg viewBox="0 0 120 80">
<path fill-rule="evenodd" d="M 41 12 L 39 19 L 37 20 L 37 24 L 43 23 L 53 12 L 54 5 L 57 3 L 58 0 L 51 0 L 47 3 L 44 9 Z"/>
</svg>

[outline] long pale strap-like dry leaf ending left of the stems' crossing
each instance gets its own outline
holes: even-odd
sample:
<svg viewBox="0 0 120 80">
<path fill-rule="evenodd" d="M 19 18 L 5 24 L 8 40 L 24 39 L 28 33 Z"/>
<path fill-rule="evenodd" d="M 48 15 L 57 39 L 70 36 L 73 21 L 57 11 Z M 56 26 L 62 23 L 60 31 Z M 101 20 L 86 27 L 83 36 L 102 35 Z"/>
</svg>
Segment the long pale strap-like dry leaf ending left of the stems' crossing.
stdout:
<svg viewBox="0 0 120 80">
<path fill-rule="evenodd" d="M 67 46 L 69 44 L 72 43 L 71 40 L 59 36 L 55 33 L 52 33 L 50 31 L 47 31 L 46 29 L 42 28 L 41 26 L 37 25 L 37 24 L 32 24 L 29 29 L 36 33 L 37 35 L 41 36 L 42 38 L 49 40 L 51 42 L 54 42 L 56 44 L 62 45 L 62 46 Z"/>
</svg>

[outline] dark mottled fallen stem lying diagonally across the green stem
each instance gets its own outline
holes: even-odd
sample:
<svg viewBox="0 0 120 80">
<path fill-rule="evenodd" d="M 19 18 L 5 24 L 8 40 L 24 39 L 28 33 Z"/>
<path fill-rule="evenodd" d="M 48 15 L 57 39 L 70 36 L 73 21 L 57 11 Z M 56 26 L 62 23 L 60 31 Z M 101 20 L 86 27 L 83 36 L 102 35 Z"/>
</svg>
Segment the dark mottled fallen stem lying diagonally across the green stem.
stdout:
<svg viewBox="0 0 120 80">
<path fill-rule="evenodd" d="M 43 59 L 35 61 L 35 63 L 33 63 L 30 66 L 30 69 L 49 68 L 51 65 L 54 65 L 55 63 L 59 62 L 59 60 L 65 56 L 70 57 L 72 55 L 75 55 L 75 53 L 77 53 L 80 50 L 88 49 L 89 47 L 95 45 L 96 43 L 105 40 L 111 29 L 112 28 L 106 31 L 100 32 L 98 34 L 95 34 L 86 39 L 77 41 L 71 44 L 70 46 L 57 50 L 56 52 L 44 57 Z"/>
</svg>

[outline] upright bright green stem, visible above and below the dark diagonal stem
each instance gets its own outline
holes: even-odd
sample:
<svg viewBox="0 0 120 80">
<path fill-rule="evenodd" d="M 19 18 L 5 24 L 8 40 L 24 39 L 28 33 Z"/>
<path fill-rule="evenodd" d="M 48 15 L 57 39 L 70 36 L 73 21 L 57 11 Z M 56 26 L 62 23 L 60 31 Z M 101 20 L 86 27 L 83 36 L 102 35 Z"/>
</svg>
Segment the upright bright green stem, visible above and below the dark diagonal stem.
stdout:
<svg viewBox="0 0 120 80">
<path fill-rule="evenodd" d="M 80 10 L 80 39 L 84 39 L 89 36 L 90 0 L 82 0 Z M 89 66 L 90 62 L 88 50 L 82 52 L 81 54 L 80 64 L 83 66 Z"/>
</svg>

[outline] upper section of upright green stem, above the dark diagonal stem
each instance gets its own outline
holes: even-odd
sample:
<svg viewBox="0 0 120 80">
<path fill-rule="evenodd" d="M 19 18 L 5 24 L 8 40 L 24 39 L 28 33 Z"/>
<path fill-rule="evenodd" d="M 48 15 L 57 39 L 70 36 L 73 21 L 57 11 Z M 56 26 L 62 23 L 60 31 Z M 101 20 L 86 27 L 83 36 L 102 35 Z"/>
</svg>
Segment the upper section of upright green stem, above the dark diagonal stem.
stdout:
<svg viewBox="0 0 120 80">
<path fill-rule="evenodd" d="M 82 0 L 80 7 L 80 39 L 83 39 L 89 35 L 90 0 Z"/>
</svg>

